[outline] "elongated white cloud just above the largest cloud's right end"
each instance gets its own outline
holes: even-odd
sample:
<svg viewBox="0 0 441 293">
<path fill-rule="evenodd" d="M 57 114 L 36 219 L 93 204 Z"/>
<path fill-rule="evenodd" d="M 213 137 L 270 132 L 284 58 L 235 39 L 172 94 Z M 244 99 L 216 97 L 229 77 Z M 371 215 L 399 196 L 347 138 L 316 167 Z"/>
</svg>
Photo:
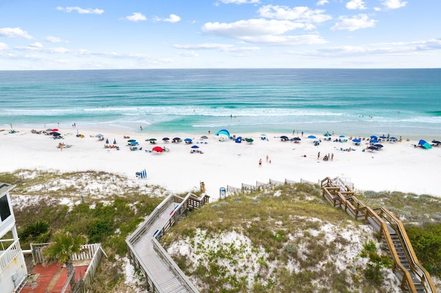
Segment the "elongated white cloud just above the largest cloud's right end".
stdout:
<svg viewBox="0 0 441 293">
<path fill-rule="evenodd" d="M 269 19 L 296 20 L 307 23 L 322 23 L 332 19 L 325 10 L 311 10 L 305 6 L 289 8 L 288 6 L 262 6 L 258 13 Z"/>
</svg>

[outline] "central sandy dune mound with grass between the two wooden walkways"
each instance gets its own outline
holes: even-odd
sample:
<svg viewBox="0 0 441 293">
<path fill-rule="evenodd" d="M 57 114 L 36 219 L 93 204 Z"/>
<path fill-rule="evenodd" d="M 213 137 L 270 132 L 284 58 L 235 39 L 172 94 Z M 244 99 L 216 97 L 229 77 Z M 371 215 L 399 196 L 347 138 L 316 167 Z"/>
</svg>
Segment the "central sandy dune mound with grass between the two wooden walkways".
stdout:
<svg viewBox="0 0 441 293">
<path fill-rule="evenodd" d="M 202 292 L 380 291 L 384 283 L 365 277 L 361 243 L 347 238 L 351 231 L 373 240 L 360 225 L 317 186 L 294 184 L 207 204 L 161 243 L 170 251 L 188 246 L 172 257 Z"/>
</svg>

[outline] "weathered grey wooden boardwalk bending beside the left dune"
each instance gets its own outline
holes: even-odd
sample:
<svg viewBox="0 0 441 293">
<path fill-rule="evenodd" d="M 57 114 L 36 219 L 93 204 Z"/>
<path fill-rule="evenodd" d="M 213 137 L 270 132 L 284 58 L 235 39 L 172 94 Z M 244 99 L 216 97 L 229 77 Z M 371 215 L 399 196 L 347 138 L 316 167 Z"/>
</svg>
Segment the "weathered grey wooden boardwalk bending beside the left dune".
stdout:
<svg viewBox="0 0 441 293">
<path fill-rule="evenodd" d="M 170 195 L 127 237 L 130 263 L 143 272 L 147 291 L 199 292 L 157 239 L 185 213 L 203 206 L 208 200 L 209 196 L 205 194 L 197 197 L 188 193 L 184 198 Z"/>
</svg>

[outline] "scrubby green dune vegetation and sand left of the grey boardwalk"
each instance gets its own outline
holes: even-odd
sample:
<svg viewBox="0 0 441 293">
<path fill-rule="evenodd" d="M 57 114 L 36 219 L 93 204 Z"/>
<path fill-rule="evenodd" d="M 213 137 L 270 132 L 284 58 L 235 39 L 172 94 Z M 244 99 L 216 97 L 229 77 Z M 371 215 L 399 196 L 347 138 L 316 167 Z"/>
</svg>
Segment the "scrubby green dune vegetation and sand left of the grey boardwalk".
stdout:
<svg viewBox="0 0 441 293">
<path fill-rule="evenodd" d="M 65 188 L 62 180 L 75 184 Z M 17 201 L 24 202 L 14 205 L 21 248 L 29 249 L 31 242 L 53 241 L 58 230 L 85 235 L 89 243 L 102 243 L 109 258 L 101 261 L 96 292 L 110 292 L 123 285 L 125 238 L 163 199 L 148 195 L 163 193 L 163 188 L 129 187 L 124 177 L 93 171 L 59 174 L 20 170 L 0 173 L 0 182 L 16 184 L 11 197 L 20 195 Z M 108 190 L 103 193 L 105 188 Z M 75 204 L 61 204 L 66 198 Z"/>
</svg>

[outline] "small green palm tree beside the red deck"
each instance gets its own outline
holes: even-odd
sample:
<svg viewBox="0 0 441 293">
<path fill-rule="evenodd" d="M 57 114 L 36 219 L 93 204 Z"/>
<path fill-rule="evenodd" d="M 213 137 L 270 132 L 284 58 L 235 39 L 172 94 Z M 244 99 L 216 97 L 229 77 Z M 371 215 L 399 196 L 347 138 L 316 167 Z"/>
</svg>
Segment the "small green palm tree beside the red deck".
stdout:
<svg viewBox="0 0 441 293">
<path fill-rule="evenodd" d="M 86 238 L 83 235 L 74 236 L 70 232 L 58 231 L 54 234 L 53 242 L 44 250 L 46 261 L 48 263 L 64 263 L 69 277 L 75 271 L 72 254 L 82 252 L 81 246 L 85 242 Z M 70 287 L 74 286 L 75 277 L 72 277 Z"/>
</svg>

